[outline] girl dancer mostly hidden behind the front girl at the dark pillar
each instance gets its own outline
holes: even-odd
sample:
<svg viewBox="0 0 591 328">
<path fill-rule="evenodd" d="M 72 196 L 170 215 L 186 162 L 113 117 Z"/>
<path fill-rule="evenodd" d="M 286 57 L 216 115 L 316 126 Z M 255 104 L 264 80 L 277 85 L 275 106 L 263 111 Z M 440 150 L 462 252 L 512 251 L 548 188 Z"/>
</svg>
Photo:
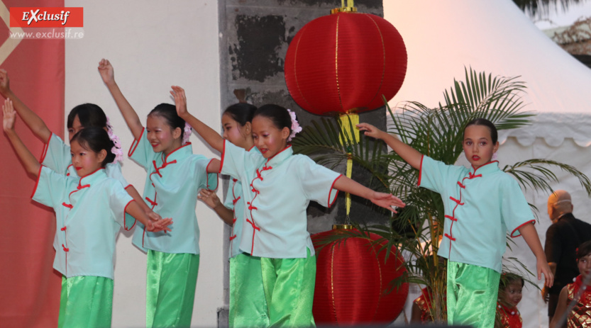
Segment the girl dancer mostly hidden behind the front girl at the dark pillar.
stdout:
<svg viewBox="0 0 591 328">
<path fill-rule="evenodd" d="M 175 89 L 179 91 L 179 89 Z M 173 94 L 177 94 L 176 92 Z M 179 93 L 180 95 L 180 93 Z M 226 108 L 221 116 L 223 139 L 247 152 L 258 152 L 254 145 L 252 125 L 256 107 L 248 103 L 236 103 Z M 267 327 L 267 300 L 261 280 L 260 258 L 250 257 L 240 250 L 245 222 L 242 183 L 233 178 L 223 205 L 214 191 L 199 191 L 199 199 L 213 208 L 232 226 L 230 235 L 230 327 Z M 247 223 L 248 224 L 248 223 Z"/>
</svg>

